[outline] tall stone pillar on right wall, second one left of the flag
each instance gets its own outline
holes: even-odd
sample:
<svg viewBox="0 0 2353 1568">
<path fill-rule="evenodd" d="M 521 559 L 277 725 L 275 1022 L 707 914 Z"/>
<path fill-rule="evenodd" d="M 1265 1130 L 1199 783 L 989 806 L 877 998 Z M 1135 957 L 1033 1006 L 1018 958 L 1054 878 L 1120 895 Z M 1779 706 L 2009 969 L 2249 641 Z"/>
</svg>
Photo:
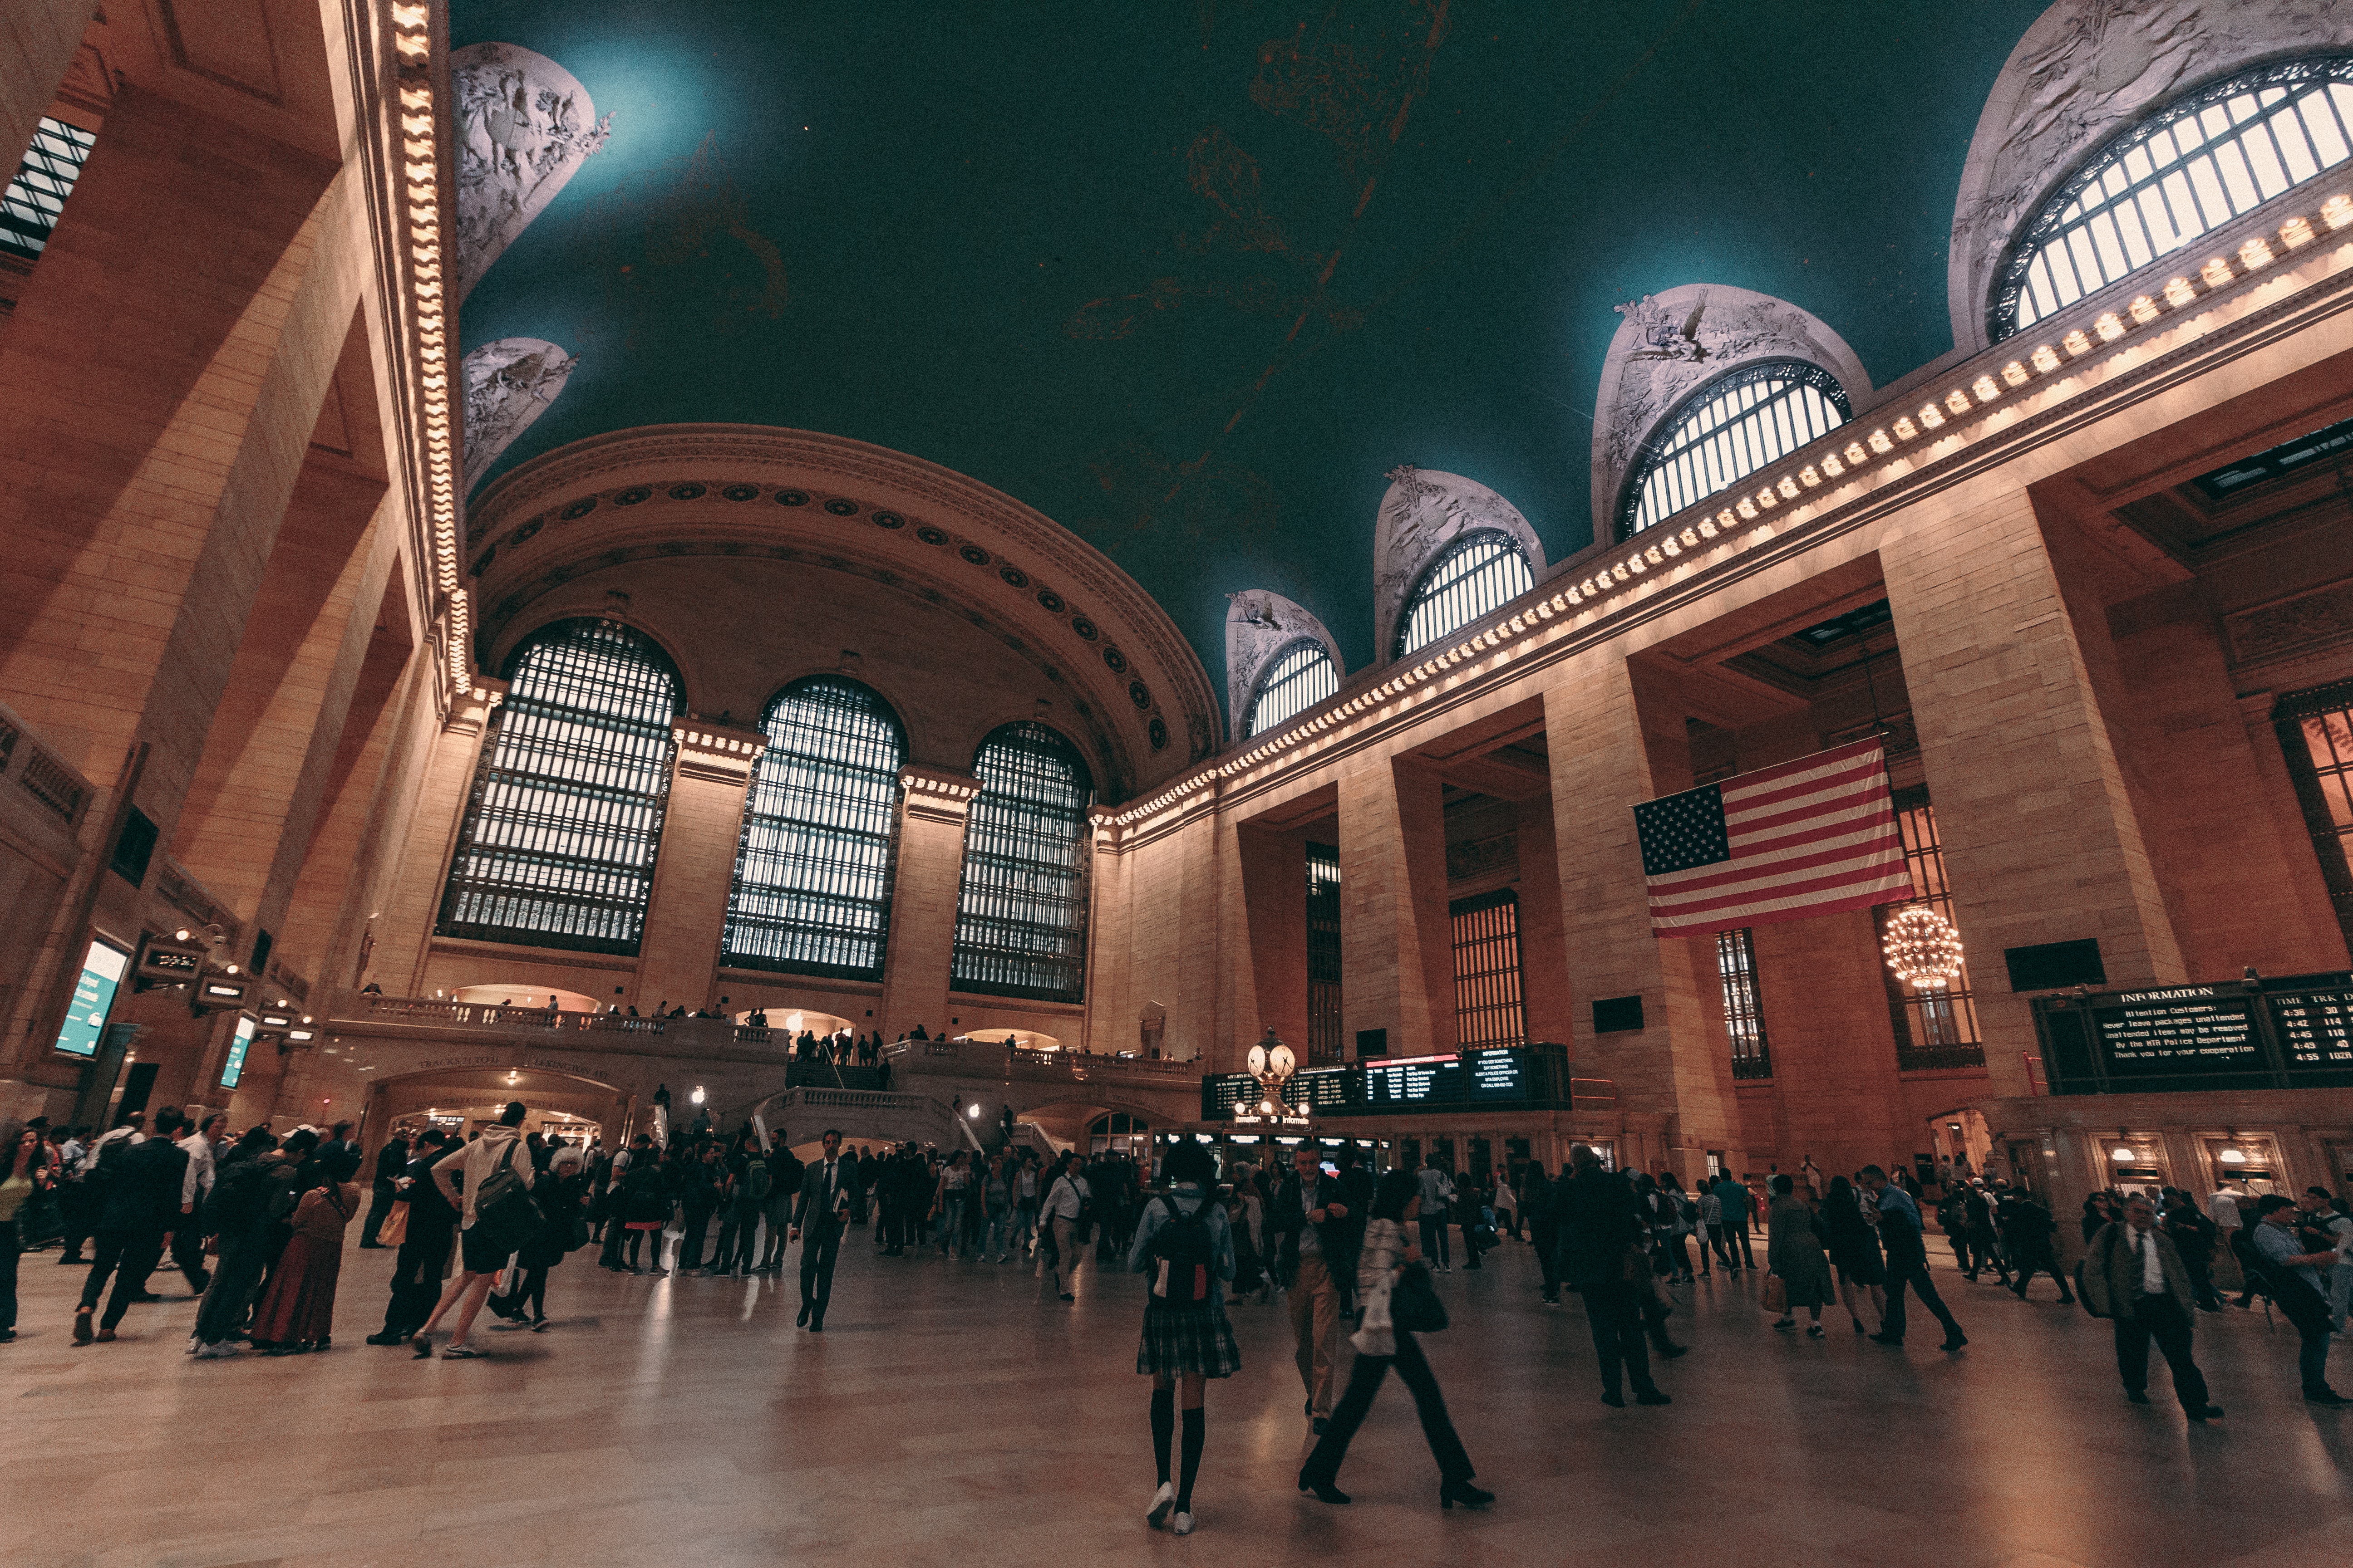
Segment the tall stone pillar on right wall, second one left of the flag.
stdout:
<svg viewBox="0 0 2353 1568">
<path fill-rule="evenodd" d="M 1339 778 L 1344 1053 L 1362 1030 L 1386 1030 L 1391 1056 L 1454 1048 L 1442 790 L 1412 757 Z"/>
</svg>

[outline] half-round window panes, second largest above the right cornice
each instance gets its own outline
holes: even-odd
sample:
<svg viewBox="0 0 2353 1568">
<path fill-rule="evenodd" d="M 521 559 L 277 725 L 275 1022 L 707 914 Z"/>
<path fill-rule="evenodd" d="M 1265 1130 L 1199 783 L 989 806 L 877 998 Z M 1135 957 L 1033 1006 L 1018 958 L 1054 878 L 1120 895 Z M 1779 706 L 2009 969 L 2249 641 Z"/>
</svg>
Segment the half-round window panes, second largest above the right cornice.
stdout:
<svg viewBox="0 0 2353 1568">
<path fill-rule="evenodd" d="M 1626 470 L 1619 538 L 1732 489 L 1755 470 L 1847 423 L 1838 376 L 1805 360 L 1725 371 L 1659 421 Z"/>
</svg>

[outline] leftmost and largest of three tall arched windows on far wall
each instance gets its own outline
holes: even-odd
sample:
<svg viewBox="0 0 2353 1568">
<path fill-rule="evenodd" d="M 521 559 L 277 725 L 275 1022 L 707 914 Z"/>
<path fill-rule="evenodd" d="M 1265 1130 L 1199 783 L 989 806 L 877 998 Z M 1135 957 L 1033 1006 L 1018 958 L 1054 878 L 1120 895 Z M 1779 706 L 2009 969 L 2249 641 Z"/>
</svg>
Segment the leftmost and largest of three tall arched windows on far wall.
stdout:
<svg viewBox="0 0 2353 1568">
<path fill-rule="evenodd" d="M 638 952 L 671 797 L 678 675 L 612 621 L 558 621 L 508 661 L 440 933 Z"/>
</svg>

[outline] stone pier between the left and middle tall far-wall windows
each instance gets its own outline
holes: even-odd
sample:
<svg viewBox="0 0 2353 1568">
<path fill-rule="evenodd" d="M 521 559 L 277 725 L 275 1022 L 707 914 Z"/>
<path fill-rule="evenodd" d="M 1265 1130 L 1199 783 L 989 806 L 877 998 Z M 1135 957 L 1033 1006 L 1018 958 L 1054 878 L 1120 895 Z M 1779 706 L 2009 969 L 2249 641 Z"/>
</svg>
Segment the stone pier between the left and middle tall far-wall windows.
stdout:
<svg viewBox="0 0 2353 1568">
<path fill-rule="evenodd" d="M 678 743 L 678 759 L 661 813 L 654 891 L 638 945 L 638 994 L 631 1001 L 671 997 L 704 1006 L 718 999 L 711 985 L 744 839 L 744 797 L 767 736 L 687 717 L 671 724 L 671 741 Z"/>
</svg>

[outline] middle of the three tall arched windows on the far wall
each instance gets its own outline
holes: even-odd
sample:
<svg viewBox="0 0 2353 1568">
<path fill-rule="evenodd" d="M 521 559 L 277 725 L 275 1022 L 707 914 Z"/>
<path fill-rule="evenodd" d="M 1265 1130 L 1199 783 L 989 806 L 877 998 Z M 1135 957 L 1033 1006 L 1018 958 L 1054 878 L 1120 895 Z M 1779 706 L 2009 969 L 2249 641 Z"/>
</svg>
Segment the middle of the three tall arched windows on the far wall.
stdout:
<svg viewBox="0 0 2353 1568">
<path fill-rule="evenodd" d="M 776 693 L 760 729 L 720 961 L 880 980 L 899 717 L 854 679 L 819 675 Z"/>
</svg>

